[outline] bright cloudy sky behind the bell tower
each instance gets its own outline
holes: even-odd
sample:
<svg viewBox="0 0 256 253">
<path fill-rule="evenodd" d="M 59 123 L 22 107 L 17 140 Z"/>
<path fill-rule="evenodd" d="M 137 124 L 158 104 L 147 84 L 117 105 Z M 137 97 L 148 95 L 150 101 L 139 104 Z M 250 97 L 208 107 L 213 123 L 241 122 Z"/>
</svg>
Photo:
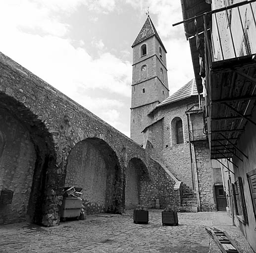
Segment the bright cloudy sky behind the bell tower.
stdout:
<svg viewBox="0 0 256 253">
<path fill-rule="evenodd" d="M 193 78 L 180 0 L 0 0 L 0 51 L 130 135 L 131 45 L 150 16 L 170 94 Z"/>
</svg>

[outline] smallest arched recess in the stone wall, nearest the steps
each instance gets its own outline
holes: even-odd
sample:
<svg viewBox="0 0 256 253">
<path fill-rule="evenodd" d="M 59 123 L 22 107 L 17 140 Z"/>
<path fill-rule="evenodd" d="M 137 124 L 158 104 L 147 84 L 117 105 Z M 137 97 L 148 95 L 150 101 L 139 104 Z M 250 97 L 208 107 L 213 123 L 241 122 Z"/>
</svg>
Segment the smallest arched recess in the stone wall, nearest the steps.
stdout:
<svg viewBox="0 0 256 253">
<path fill-rule="evenodd" d="M 142 197 L 150 180 L 146 165 L 139 158 L 132 158 L 127 167 L 125 180 L 125 209 L 143 204 Z"/>
</svg>

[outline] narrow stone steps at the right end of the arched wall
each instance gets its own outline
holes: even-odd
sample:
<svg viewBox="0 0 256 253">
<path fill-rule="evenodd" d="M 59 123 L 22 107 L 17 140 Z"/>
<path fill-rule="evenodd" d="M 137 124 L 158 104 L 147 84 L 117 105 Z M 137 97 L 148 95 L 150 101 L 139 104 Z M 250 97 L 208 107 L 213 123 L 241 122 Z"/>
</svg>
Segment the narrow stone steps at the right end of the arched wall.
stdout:
<svg viewBox="0 0 256 253">
<path fill-rule="evenodd" d="M 197 194 L 191 189 L 191 187 L 182 183 L 182 199 L 180 212 L 197 212 L 198 201 Z"/>
</svg>

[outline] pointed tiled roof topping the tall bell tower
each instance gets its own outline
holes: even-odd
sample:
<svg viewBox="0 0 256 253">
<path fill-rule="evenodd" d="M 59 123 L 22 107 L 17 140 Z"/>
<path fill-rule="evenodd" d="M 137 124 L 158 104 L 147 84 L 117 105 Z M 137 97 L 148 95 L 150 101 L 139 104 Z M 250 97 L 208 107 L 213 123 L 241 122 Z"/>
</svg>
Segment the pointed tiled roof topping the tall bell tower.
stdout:
<svg viewBox="0 0 256 253">
<path fill-rule="evenodd" d="M 165 49 L 159 35 L 157 34 L 157 32 L 155 30 L 154 24 L 153 24 L 150 16 L 148 15 L 148 18 L 146 19 L 146 21 L 145 21 L 140 33 L 138 34 L 136 40 L 133 42 L 132 47 L 139 44 L 140 42 L 145 41 L 146 39 L 149 39 L 152 36 L 155 36 L 157 38 L 157 40 L 160 42 L 161 46 L 163 47 L 163 49 L 166 52 L 166 49 Z"/>
</svg>

